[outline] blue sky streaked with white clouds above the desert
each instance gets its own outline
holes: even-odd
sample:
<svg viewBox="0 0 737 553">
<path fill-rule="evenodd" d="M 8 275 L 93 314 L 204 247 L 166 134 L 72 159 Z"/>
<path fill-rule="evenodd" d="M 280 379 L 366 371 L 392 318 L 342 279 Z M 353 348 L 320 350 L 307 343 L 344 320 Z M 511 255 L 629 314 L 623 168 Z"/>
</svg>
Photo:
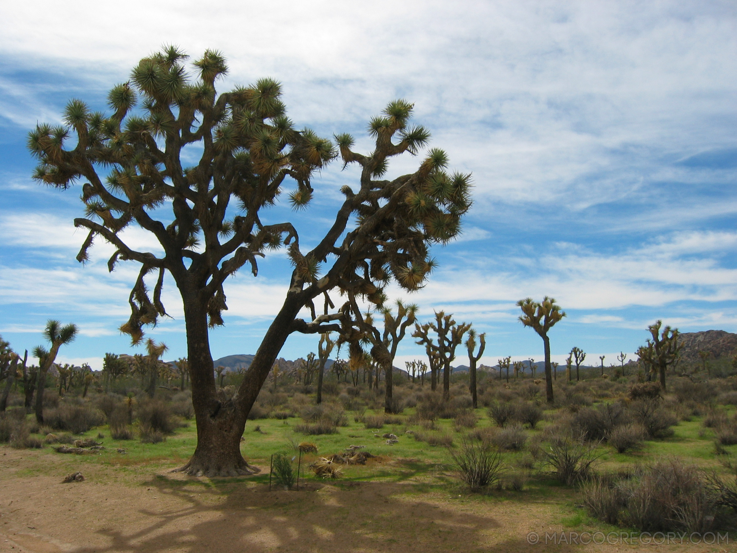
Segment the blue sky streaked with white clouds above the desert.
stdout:
<svg viewBox="0 0 737 553">
<path fill-rule="evenodd" d="M 475 206 L 440 268 L 405 300 L 455 313 L 488 333 L 486 363 L 542 358 L 542 341 L 514 302 L 554 296 L 568 313 L 551 331 L 553 358 L 573 346 L 598 363 L 632 353 L 655 319 L 683 332 L 737 331 L 737 7 L 675 2 L 91 1 L 0 7 L 0 334 L 15 349 L 41 344 L 46 319 L 74 321 L 62 361 L 99 368 L 131 352 L 116 330 L 137 268 L 108 274 L 110 247 L 74 260 L 84 236 L 79 189 L 40 187 L 25 150 L 36 122 L 58 122 L 79 97 L 104 108 L 161 44 L 192 56 L 220 49 L 221 89 L 274 77 L 289 115 L 323 136 L 350 132 L 368 150 L 368 119 L 397 97 L 433 132 L 451 167 L 472 172 Z M 390 175 L 411 172 L 399 159 Z M 318 240 L 354 170 L 328 167 L 307 212 L 286 206 L 301 242 Z M 128 240 L 155 243 L 140 229 Z M 155 251 L 151 249 L 151 251 Z M 288 282 L 283 254 L 226 288 L 226 327 L 214 357 L 254 352 Z M 181 305 L 150 334 L 185 355 Z M 282 355 L 316 348 L 293 336 Z M 410 340 L 397 364 L 422 358 Z M 459 363 L 465 358 L 459 356 Z M 401 365 L 400 365 L 401 366 Z"/>
</svg>

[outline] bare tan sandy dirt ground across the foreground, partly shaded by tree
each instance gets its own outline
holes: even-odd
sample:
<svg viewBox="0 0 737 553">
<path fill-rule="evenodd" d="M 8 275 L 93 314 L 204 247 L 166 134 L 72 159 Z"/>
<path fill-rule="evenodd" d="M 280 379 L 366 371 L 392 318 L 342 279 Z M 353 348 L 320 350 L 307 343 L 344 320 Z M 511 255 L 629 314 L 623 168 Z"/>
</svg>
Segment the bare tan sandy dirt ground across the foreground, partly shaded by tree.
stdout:
<svg viewBox="0 0 737 553">
<path fill-rule="evenodd" d="M 80 467 L 85 481 L 63 484 L 66 459 L 55 465 L 53 454 L 35 456 L 33 465 L 47 468 L 28 470 L 27 451 L 1 451 L 0 552 L 737 551 L 724 543 L 530 545 L 528 532 L 541 541 L 545 532 L 570 532 L 553 499 L 478 501 L 374 482 L 269 492 L 160 467 L 95 464 Z"/>
</svg>

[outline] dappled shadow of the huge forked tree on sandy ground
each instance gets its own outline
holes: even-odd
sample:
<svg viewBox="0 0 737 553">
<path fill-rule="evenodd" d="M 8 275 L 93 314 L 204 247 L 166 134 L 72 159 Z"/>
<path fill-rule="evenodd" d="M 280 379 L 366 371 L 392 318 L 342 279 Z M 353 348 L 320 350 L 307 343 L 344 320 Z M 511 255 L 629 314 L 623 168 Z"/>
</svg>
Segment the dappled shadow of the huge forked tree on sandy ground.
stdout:
<svg viewBox="0 0 737 553">
<path fill-rule="evenodd" d="M 212 551 L 265 552 L 514 552 L 529 549 L 525 535 L 487 545 L 499 522 L 456 504 L 433 504 L 407 494 L 406 484 L 353 482 L 340 488 L 272 491 L 230 482 L 192 486 L 158 478 L 150 485 L 180 507 L 139 509 L 144 527 L 101 529 L 108 546 L 81 553 Z M 319 489 L 316 489 L 318 488 Z M 503 509 L 502 505 L 499 505 Z M 502 532 L 505 534 L 506 532 Z M 497 541 L 492 537 L 491 541 Z M 543 548 L 545 549 L 545 548 Z M 556 547 L 556 551 L 565 551 Z"/>
</svg>

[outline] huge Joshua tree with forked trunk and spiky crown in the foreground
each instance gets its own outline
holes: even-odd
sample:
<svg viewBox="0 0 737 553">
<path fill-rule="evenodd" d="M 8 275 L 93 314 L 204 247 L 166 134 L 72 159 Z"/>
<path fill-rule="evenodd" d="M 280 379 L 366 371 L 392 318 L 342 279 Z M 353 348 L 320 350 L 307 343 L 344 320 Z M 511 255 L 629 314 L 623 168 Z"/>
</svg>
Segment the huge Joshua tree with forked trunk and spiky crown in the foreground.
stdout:
<svg viewBox="0 0 737 553">
<path fill-rule="evenodd" d="M 329 292 L 338 288 L 374 298 L 394 279 L 408 291 L 425 282 L 433 268 L 430 246 L 446 243 L 460 230 L 471 204 L 469 175 L 445 171 L 447 157 L 430 150 L 416 172 L 386 180 L 388 161 L 419 153 L 430 134 L 410 126 L 412 105 L 391 102 L 371 119 L 374 150 L 352 150 L 347 134 L 328 139 L 298 130 L 287 117 L 279 83 L 262 79 L 253 86 L 218 93 L 215 82 L 227 72 L 218 52 L 196 60 L 194 77 L 186 56 L 168 47 L 144 58 L 130 80 L 111 89 L 111 114 L 91 111 L 71 100 L 64 125 L 38 125 L 29 148 L 41 162 L 35 178 L 68 189 L 83 181 L 86 217 L 74 220 L 88 229 L 77 259 L 88 258 L 97 237 L 116 251 L 108 262 L 141 265 L 130 292 L 130 319 L 121 330 L 133 343 L 143 338 L 166 310 L 161 302 L 168 272 L 181 294 L 187 337 L 187 361 L 198 445 L 182 467 L 193 475 L 234 475 L 250 470 L 240 453 L 240 437 L 284 341 L 290 333 L 340 330 L 342 317 Z M 133 111 L 140 100 L 140 108 Z M 71 135 L 75 141 L 65 143 Z M 200 152 L 191 166 L 184 162 Z M 265 224 L 260 212 L 273 205 L 287 182 L 295 209 L 309 204 L 310 178 L 340 154 L 343 164 L 360 167 L 357 187 L 343 186 L 335 220 L 311 251 L 303 252 L 297 229 Z M 156 237 L 164 254 L 139 251 L 121 231 L 135 224 Z M 242 383 L 232 397 L 217 393 L 209 327 L 223 324 L 223 284 L 243 265 L 257 273 L 256 257 L 282 246 L 293 262 L 290 285 Z M 153 293 L 146 277 L 155 273 Z M 323 313 L 314 300 L 321 297 Z M 311 320 L 298 318 L 303 307 Z"/>
</svg>

